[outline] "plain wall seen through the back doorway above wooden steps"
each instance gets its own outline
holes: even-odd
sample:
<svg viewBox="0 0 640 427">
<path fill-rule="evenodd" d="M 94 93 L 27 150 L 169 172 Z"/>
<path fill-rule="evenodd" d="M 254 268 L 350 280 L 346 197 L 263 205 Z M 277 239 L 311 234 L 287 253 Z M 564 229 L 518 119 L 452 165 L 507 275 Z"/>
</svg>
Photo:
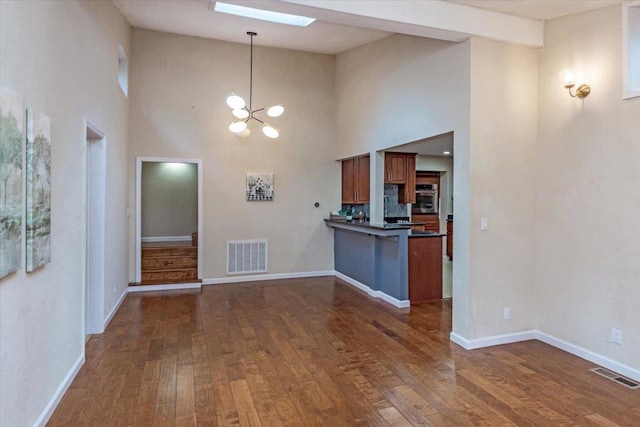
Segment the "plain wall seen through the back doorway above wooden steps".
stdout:
<svg viewBox="0 0 640 427">
<path fill-rule="evenodd" d="M 198 231 L 198 166 L 142 163 L 142 237 L 189 236 Z"/>
</svg>

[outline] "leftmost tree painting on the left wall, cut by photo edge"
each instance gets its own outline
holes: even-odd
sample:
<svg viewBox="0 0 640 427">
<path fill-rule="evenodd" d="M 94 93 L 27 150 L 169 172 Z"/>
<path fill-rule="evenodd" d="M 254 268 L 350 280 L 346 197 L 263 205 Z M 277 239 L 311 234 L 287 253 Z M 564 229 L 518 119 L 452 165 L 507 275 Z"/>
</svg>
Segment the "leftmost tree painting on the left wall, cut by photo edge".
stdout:
<svg viewBox="0 0 640 427">
<path fill-rule="evenodd" d="M 0 278 L 22 267 L 22 96 L 0 86 Z"/>
</svg>

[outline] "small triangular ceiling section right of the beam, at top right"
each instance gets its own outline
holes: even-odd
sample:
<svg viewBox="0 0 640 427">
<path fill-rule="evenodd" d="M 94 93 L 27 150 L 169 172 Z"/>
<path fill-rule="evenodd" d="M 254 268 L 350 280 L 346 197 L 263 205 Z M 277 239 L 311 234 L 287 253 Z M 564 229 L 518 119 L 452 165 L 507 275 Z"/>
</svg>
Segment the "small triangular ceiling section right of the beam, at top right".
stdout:
<svg viewBox="0 0 640 427">
<path fill-rule="evenodd" d="M 547 21 L 574 13 L 600 9 L 622 3 L 622 0 L 445 0 L 523 18 Z"/>
</svg>

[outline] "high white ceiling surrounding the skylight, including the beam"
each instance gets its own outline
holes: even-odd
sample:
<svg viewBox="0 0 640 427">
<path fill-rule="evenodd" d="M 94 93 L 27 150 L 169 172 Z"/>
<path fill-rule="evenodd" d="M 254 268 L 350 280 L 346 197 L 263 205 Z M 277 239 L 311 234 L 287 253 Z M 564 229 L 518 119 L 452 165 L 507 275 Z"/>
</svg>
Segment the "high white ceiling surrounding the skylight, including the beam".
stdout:
<svg viewBox="0 0 640 427">
<path fill-rule="evenodd" d="M 209 0 L 113 1 L 136 28 L 237 43 L 249 43 L 246 32 L 255 31 L 258 36 L 254 43 L 259 46 L 337 54 L 393 32 L 461 41 L 479 31 L 475 34 L 500 39 L 531 23 L 619 4 L 622 0 L 225 0 L 318 19 L 306 28 L 213 12 L 209 10 Z M 373 19 L 372 15 L 365 16 L 374 9 L 386 12 Z M 421 21 L 431 23 L 420 24 Z M 440 24 L 444 27 L 438 28 Z M 484 29 L 478 30 L 483 25 Z M 493 29 L 501 26 L 505 28 L 497 36 Z M 514 37 L 516 43 L 541 46 Z"/>
</svg>

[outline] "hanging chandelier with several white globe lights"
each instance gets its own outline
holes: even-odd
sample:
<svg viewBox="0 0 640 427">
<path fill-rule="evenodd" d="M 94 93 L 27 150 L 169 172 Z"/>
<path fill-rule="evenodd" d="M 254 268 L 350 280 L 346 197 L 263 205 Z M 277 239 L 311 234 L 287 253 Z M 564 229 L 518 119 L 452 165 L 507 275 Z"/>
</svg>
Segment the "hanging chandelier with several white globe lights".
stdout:
<svg viewBox="0 0 640 427">
<path fill-rule="evenodd" d="M 250 59 L 250 74 L 249 74 L 249 106 L 241 96 L 232 93 L 227 98 L 227 105 L 231 107 L 233 116 L 238 119 L 234 120 L 229 125 L 229 130 L 233 132 L 238 138 L 246 138 L 251 134 L 251 130 L 248 127 L 250 120 L 255 120 L 262 125 L 262 133 L 268 138 L 275 139 L 280 136 L 280 131 L 263 120 L 260 120 L 255 116 L 260 111 L 267 110 L 267 116 L 279 117 L 284 113 L 284 107 L 282 105 L 274 105 L 269 108 L 253 109 L 253 38 L 258 35 L 253 31 L 247 31 L 247 35 L 251 36 L 251 59 Z"/>
</svg>

